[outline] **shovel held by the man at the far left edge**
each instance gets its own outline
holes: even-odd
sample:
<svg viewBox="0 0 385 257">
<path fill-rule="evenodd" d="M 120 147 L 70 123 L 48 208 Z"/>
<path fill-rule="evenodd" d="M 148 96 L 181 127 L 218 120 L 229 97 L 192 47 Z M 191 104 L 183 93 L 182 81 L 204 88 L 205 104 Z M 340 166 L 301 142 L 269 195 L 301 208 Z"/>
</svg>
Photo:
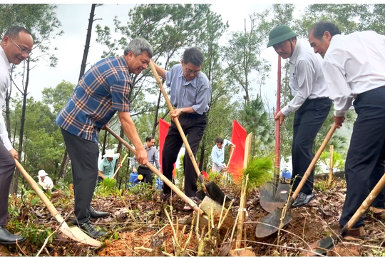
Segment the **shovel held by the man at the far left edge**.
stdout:
<svg viewBox="0 0 385 257">
<path fill-rule="evenodd" d="M 26 178 L 26 181 L 29 183 L 32 189 L 36 192 L 36 194 L 41 198 L 41 201 L 47 206 L 48 211 L 52 214 L 53 218 L 56 219 L 56 221 L 59 224 L 59 231 L 63 233 L 65 236 L 68 236 L 68 238 L 71 238 L 72 240 L 83 243 L 88 246 L 94 246 L 94 247 L 100 247 L 101 242 L 97 241 L 90 236 L 88 236 L 86 233 L 81 231 L 78 226 L 72 226 L 71 228 L 68 227 L 67 223 L 64 221 L 63 217 L 60 215 L 60 213 L 56 210 L 55 206 L 51 203 L 51 201 L 48 200 L 47 196 L 43 193 L 41 188 L 38 186 L 36 181 L 34 181 L 34 178 L 31 178 L 29 176 L 29 173 L 26 172 L 26 170 L 21 166 L 19 161 L 15 160 L 16 167 L 20 171 L 21 175 Z"/>
</svg>

